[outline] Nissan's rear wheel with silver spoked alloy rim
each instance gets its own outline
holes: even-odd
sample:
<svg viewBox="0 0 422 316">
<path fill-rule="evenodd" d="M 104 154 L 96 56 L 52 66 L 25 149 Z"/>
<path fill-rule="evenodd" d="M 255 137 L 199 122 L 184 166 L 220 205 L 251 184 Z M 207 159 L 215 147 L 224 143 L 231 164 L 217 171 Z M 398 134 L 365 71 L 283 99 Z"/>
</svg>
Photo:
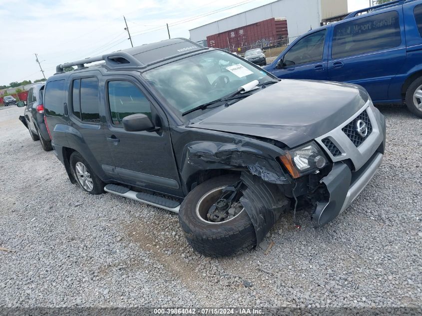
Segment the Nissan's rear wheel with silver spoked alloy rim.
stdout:
<svg viewBox="0 0 422 316">
<path fill-rule="evenodd" d="M 84 191 L 89 194 L 104 193 L 104 182 L 77 151 L 70 155 L 70 169 L 76 182 Z"/>
</svg>

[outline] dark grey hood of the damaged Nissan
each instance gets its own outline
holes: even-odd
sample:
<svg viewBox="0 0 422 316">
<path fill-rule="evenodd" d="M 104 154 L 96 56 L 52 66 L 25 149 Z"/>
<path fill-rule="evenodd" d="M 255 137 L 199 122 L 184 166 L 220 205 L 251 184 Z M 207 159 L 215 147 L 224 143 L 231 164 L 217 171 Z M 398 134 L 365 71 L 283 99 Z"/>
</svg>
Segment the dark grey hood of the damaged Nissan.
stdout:
<svg viewBox="0 0 422 316">
<path fill-rule="evenodd" d="M 333 130 L 368 101 L 353 84 L 283 79 L 190 127 L 264 137 L 295 147 Z"/>
</svg>

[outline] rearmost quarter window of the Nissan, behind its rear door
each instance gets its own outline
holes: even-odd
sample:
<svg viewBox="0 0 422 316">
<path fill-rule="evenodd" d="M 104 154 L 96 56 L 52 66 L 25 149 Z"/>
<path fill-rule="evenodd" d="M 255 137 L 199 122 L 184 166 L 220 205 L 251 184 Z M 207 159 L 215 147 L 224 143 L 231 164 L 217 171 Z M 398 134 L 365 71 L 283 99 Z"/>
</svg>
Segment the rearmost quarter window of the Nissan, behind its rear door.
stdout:
<svg viewBox="0 0 422 316">
<path fill-rule="evenodd" d="M 64 115 L 64 80 L 50 81 L 44 88 L 44 111 L 51 116 Z"/>
</svg>

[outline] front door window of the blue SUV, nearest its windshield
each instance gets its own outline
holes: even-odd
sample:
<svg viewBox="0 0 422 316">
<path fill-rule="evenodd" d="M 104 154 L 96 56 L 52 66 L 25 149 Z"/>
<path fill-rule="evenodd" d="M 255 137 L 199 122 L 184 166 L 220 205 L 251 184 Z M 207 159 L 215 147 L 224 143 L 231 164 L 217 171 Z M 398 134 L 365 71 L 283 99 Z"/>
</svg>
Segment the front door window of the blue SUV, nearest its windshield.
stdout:
<svg viewBox="0 0 422 316">
<path fill-rule="evenodd" d="M 327 29 L 300 39 L 284 56 L 286 66 L 322 60 Z"/>
</svg>

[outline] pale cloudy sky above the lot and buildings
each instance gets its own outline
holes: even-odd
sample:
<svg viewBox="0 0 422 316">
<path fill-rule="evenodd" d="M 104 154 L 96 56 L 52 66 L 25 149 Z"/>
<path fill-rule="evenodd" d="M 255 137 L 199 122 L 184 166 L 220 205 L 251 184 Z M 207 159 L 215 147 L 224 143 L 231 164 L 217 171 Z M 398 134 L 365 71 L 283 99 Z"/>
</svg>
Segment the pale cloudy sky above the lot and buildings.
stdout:
<svg viewBox="0 0 422 316">
<path fill-rule="evenodd" d="M 35 80 L 67 61 L 172 37 L 274 0 L 0 0 L 0 85 Z M 349 11 L 369 0 L 348 0 Z"/>
</svg>

